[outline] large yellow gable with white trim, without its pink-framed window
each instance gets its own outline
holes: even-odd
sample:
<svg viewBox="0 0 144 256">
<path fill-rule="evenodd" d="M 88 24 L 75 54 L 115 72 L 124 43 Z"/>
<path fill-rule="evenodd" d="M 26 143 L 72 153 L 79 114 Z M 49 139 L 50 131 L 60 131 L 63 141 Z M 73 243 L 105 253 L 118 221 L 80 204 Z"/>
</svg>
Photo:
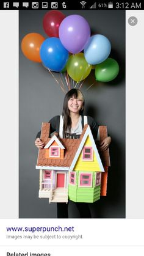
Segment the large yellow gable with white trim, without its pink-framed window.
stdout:
<svg viewBox="0 0 144 256">
<path fill-rule="evenodd" d="M 85 161 L 82 159 L 82 151 L 84 147 L 93 148 L 93 161 Z M 71 170 L 92 170 L 97 172 L 104 172 L 103 164 L 101 163 L 101 159 L 99 157 L 99 153 L 96 148 L 95 141 L 90 130 L 90 126 L 87 127 L 84 137 L 82 138 L 81 144 L 79 145 L 76 155 L 74 156 L 73 162 L 70 166 L 70 171 Z"/>
</svg>

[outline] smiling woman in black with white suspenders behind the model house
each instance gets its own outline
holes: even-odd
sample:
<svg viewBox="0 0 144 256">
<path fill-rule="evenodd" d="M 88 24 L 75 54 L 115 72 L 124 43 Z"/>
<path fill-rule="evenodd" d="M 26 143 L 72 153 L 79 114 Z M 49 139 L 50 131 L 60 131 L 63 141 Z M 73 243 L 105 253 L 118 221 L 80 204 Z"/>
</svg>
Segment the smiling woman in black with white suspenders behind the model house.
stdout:
<svg viewBox="0 0 144 256">
<path fill-rule="evenodd" d="M 79 139 L 85 123 L 90 125 L 94 139 L 98 134 L 98 123 L 92 117 L 85 117 L 84 96 L 80 90 L 71 89 L 65 95 L 63 101 L 62 116 L 57 115 L 49 120 L 51 123 L 51 133 L 56 131 L 60 137 Z M 111 137 L 106 137 L 99 145 L 99 150 L 107 150 L 111 142 Z M 40 149 L 43 148 L 44 142 L 40 140 L 40 132 L 37 134 L 35 145 Z M 76 203 L 81 218 L 91 218 L 88 203 Z M 68 218 L 68 204 L 57 203 L 57 218 Z"/>
</svg>

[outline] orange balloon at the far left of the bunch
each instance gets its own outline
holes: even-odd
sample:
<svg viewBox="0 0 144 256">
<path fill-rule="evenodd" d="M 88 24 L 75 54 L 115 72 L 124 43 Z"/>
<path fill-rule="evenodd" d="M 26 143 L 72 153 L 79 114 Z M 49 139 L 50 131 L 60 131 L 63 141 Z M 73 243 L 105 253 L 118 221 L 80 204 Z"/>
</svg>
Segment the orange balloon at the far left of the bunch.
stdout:
<svg viewBox="0 0 144 256">
<path fill-rule="evenodd" d="M 21 42 L 21 50 L 27 59 L 35 62 L 41 62 L 40 46 L 45 41 L 45 38 L 38 33 L 30 33 L 25 35 Z"/>
</svg>

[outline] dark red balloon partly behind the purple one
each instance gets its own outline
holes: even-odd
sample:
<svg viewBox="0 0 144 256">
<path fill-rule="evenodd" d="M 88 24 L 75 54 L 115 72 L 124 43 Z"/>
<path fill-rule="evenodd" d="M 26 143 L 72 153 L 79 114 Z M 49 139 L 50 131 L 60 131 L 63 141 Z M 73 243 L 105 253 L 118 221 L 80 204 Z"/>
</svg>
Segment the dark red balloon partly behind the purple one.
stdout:
<svg viewBox="0 0 144 256">
<path fill-rule="evenodd" d="M 59 37 L 59 26 L 65 15 L 59 10 L 47 12 L 43 18 L 43 29 L 49 37 Z"/>
</svg>

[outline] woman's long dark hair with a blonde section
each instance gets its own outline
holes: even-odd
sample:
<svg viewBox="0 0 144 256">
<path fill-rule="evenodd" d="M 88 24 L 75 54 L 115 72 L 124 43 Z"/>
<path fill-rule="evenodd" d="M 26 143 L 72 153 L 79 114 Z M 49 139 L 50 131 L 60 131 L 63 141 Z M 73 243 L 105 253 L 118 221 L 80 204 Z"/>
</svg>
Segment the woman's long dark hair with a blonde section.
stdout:
<svg viewBox="0 0 144 256">
<path fill-rule="evenodd" d="M 84 112 L 84 96 L 82 95 L 81 90 L 78 89 L 71 89 L 67 92 L 65 95 L 64 101 L 63 101 L 63 135 L 65 137 L 65 133 L 67 131 L 70 132 L 71 129 L 71 117 L 70 117 L 70 110 L 68 109 L 68 101 L 70 98 L 79 98 L 83 101 L 83 106 L 81 110 L 79 111 L 79 114 L 82 115 Z"/>
</svg>

